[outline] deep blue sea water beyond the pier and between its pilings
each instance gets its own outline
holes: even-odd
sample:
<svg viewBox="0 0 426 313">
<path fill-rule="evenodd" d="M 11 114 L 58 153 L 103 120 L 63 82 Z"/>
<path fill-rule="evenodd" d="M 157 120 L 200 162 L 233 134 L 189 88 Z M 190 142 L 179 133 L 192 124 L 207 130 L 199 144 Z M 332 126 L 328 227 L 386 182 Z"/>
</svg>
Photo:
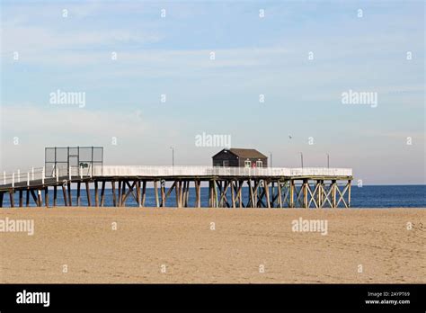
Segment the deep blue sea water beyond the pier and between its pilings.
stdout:
<svg viewBox="0 0 426 313">
<path fill-rule="evenodd" d="M 83 186 L 82 186 L 83 187 Z M 94 203 L 94 191 L 93 188 L 91 192 L 92 202 Z M 166 188 L 166 190 L 168 187 Z M 193 188 L 190 188 L 190 199 L 189 206 L 193 207 L 195 203 L 195 191 Z M 100 191 L 101 192 L 101 189 Z M 147 188 L 146 191 L 146 206 L 155 206 L 155 193 L 154 189 Z M 25 205 L 25 193 L 23 193 L 23 204 Z M 247 199 L 248 189 L 243 188 L 243 199 Z M 42 192 L 43 201 L 44 195 Z M 15 206 L 19 205 L 19 195 L 18 192 L 15 192 L 14 202 Z M 31 197 L 31 196 L 30 196 Z M 231 194 L 229 192 L 228 199 L 230 199 Z M 72 190 L 73 203 L 76 202 L 76 191 Z M 49 192 L 49 201 L 50 205 L 53 203 L 53 191 Z M 86 192 L 84 187 L 81 192 L 81 205 L 87 205 Z M 30 198 L 31 206 L 32 198 Z M 92 204 L 93 204 L 92 203 Z M 58 189 L 58 205 L 63 205 L 64 201 L 62 198 L 62 190 Z M 10 206 L 9 196 L 6 194 L 4 196 L 4 207 Z M 94 204 L 93 204 L 94 205 Z M 112 206 L 112 194 L 111 190 L 105 190 L 105 206 Z M 126 201 L 127 206 L 137 206 L 136 201 L 131 195 L 129 195 L 128 200 Z M 167 207 L 176 206 L 175 193 L 171 193 L 170 197 L 166 201 Z M 209 189 L 201 188 L 201 206 L 209 206 Z M 363 186 L 361 188 L 356 185 L 352 186 L 351 189 L 351 206 L 353 208 L 426 208 L 426 185 L 401 185 L 401 186 Z"/>
</svg>

